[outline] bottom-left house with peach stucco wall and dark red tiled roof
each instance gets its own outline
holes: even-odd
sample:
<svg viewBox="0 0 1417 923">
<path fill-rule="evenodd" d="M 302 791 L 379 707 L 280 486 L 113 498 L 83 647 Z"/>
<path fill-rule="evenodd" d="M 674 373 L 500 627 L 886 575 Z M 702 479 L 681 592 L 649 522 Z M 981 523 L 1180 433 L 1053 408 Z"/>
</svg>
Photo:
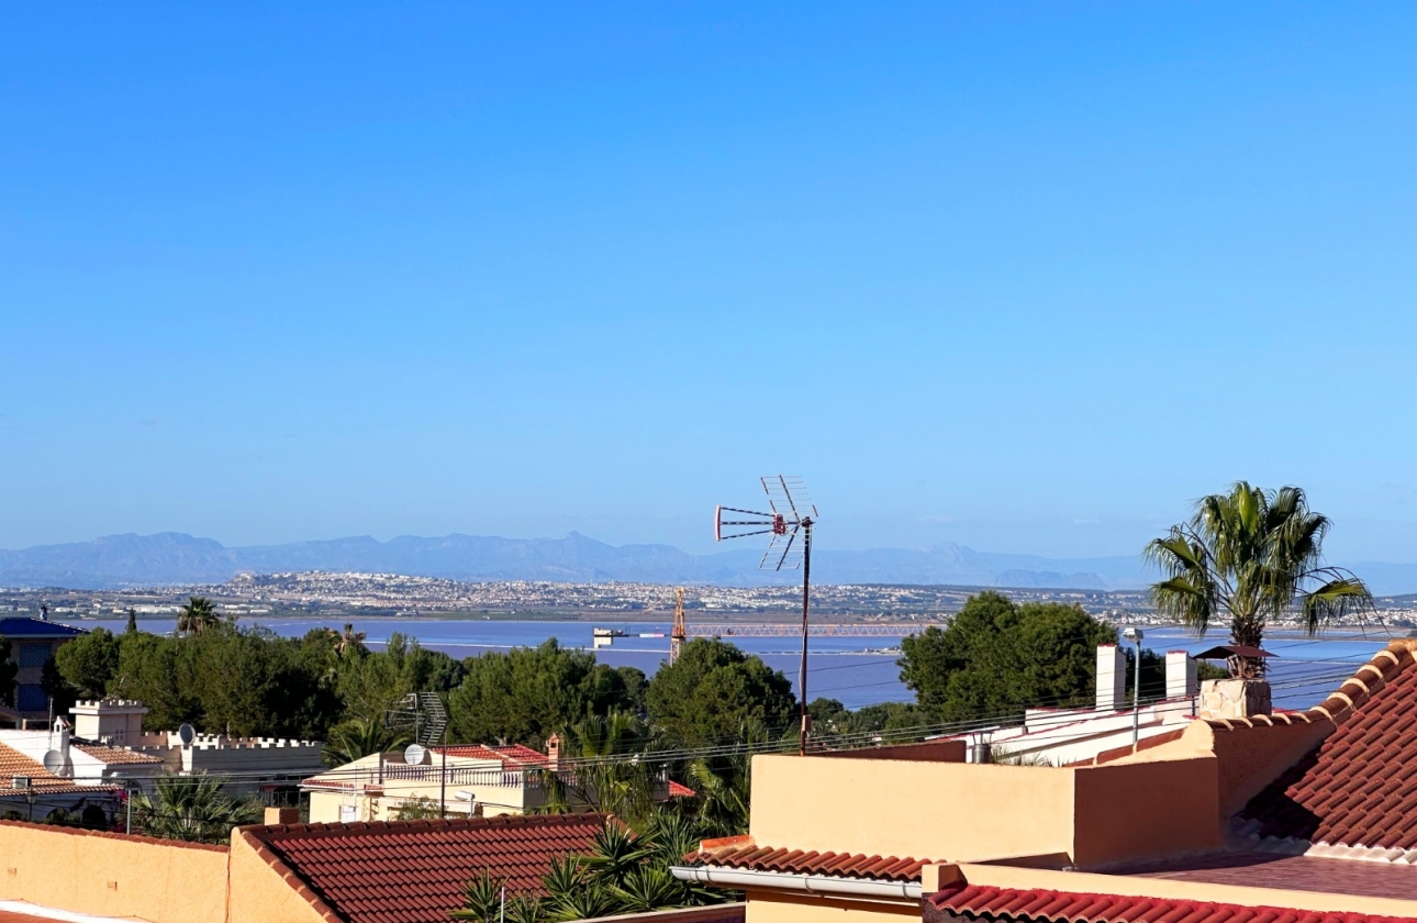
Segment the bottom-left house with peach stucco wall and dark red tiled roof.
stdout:
<svg viewBox="0 0 1417 923">
<path fill-rule="evenodd" d="M 242 827 L 230 844 L 0 821 L 4 923 L 448 923 L 487 873 L 531 893 L 605 815 Z M 286 818 L 288 819 L 288 818 Z M 543 892 L 544 893 L 544 892 Z M 622 923 L 743 923 L 743 905 Z"/>
</svg>

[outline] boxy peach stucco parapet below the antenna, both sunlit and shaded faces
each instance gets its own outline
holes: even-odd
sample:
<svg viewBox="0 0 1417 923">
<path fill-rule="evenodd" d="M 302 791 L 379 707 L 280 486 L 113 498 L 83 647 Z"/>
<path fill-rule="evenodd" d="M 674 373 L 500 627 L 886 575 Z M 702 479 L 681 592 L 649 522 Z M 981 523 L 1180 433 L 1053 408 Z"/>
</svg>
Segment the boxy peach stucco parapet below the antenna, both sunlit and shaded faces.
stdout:
<svg viewBox="0 0 1417 923">
<path fill-rule="evenodd" d="M 1219 846 L 1217 787 L 1212 756 L 1078 768 L 758 756 L 750 832 L 794 849 L 1102 865 Z"/>
</svg>

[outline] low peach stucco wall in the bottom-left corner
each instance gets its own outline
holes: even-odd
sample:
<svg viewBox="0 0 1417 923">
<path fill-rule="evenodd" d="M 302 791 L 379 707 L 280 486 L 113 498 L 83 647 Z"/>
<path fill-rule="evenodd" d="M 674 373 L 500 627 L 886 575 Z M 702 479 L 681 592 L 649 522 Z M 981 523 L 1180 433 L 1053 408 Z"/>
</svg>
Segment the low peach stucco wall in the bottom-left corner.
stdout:
<svg viewBox="0 0 1417 923">
<path fill-rule="evenodd" d="M 0 822 L 0 899 L 152 923 L 222 923 L 227 849 Z"/>
</svg>

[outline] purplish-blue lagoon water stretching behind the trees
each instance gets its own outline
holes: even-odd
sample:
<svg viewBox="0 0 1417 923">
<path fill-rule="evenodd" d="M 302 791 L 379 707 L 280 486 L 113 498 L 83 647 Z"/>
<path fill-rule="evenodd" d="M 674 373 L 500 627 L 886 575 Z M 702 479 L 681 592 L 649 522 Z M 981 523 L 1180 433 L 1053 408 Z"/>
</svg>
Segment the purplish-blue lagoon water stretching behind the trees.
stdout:
<svg viewBox="0 0 1417 923">
<path fill-rule="evenodd" d="M 534 647 L 547 638 L 557 638 L 563 647 L 589 649 L 591 630 L 595 627 L 619 628 L 631 635 L 656 632 L 665 635 L 615 638 L 612 647 L 597 651 L 604 664 L 638 666 L 646 673 L 653 673 L 669 658 L 667 622 L 292 618 L 242 620 L 241 624 L 256 624 L 281 635 L 298 637 L 317 627 L 340 630 L 349 621 L 353 621 L 356 631 L 366 632 L 366 642 L 373 648 L 381 647 L 397 631 L 418 638 L 427 648 L 444 651 L 459 659 L 483 651 Z M 113 632 L 123 631 L 126 625 L 123 620 L 84 620 L 79 624 L 85 628 L 103 627 Z M 143 631 L 170 632 L 174 622 L 145 618 L 139 625 Z M 750 654 L 757 654 L 769 666 L 786 673 L 794 686 L 796 685 L 801 656 L 796 638 L 730 637 L 726 625 L 726 639 Z M 901 627 L 901 635 L 908 631 L 908 625 Z M 1387 641 L 1389 635 L 1382 630 L 1319 638 L 1272 635 L 1264 647 L 1277 655 L 1270 669 L 1275 706 L 1298 709 L 1322 702 Z M 1144 647 L 1158 652 L 1195 654 L 1216 644 L 1224 644 L 1224 638 L 1214 631 L 1206 638 L 1196 638 L 1180 628 L 1148 628 Z M 840 699 L 852 709 L 880 702 L 908 702 L 913 695 L 900 682 L 900 668 L 896 666 L 900 656 L 898 645 L 900 637 L 812 638 L 808 655 L 808 693 L 813 699 L 818 696 Z"/>
</svg>

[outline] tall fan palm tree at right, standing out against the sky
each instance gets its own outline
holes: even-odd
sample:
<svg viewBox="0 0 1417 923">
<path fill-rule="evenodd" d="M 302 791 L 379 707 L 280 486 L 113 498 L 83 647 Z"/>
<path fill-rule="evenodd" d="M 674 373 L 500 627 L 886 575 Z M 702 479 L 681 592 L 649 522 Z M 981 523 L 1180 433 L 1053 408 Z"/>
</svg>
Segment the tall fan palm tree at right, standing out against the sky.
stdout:
<svg viewBox="0 0 1417 923">
<path fill-rule="evenodd" d="M 1152 584 L 1156 608 L 1197 634 L 1230 620 L 1237 645 L 1260 647 L 1271 621 L 1298 605 L 1312 635 L 1350 611 L 1372 608 L 1373 597 L 1352 571 L 1322 563 L 1329 519 L 1309 509 L 1294 486 L 1263 491 L 1240 481 L 1212 493 L 1195 515 L 1146 546 L 1146 560 L 1165 578 Z M 1258 676 L 1258 659 L 1240 658 L 1237 676 Z"/>
</svg>

